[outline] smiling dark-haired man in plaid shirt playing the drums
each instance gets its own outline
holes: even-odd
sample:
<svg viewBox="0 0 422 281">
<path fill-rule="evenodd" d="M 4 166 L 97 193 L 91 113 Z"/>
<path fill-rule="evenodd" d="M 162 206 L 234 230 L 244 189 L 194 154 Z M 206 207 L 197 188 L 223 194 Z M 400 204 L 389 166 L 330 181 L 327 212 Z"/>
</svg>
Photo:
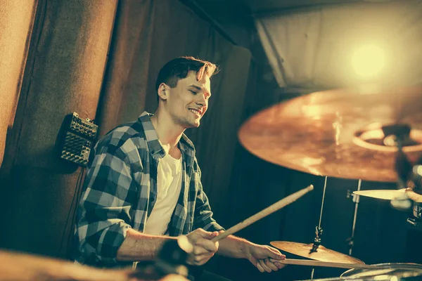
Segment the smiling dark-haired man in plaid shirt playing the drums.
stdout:
<svg viewBox="0 0 422 281">
<path fill-rule="evenodd" d="M 170 60 L 158 74 L 158 109 L 117 126 L 96 145 L 77 216 L 79 255 L 91 266 L 121 266 L 155 259 L 169 239 L 186 235 L 188 263 L 201 266 L 215 253 L 248 259 L 261 272 L 283 267 L 269 246 L 229 235 L 212 218 L 200 182 L 195 148 L 184 130 L 198 127 L 211 96 L 212 63 Z"/>
</svg>

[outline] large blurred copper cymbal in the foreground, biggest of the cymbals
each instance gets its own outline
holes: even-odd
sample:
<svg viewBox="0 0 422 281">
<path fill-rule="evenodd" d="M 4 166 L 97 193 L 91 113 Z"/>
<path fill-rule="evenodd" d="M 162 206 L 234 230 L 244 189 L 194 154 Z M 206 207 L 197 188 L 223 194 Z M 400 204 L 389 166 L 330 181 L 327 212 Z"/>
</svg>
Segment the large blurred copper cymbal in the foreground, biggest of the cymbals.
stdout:
<svg viewBox="0 0 422 281">
<path fill-rule="evenodd" d="M 238 132 L 253 155 L 317 176 L 396 182 L 395 141 L 383 126 L 408 124 L 403 150 L 422 155 L 422 85 L 310 93 L 273 105 Z"/>
</svg>

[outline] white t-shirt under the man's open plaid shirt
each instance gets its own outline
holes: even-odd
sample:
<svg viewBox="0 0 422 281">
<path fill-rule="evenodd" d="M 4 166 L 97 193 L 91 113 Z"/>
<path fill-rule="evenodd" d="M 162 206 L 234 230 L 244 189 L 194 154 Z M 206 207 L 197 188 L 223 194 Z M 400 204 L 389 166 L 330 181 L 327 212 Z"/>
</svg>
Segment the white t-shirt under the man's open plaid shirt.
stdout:
<svg viewBox="0 0 422 281">
<path fill-rule="evenodd" d="M 143 233 L 164 235 L 167 232 L 174 207 L 181 190 L 181 157 L 174 159 L 168 153 L 160 159 L 157 171 L 157 201 L 146 220 Z"/>
</svg>

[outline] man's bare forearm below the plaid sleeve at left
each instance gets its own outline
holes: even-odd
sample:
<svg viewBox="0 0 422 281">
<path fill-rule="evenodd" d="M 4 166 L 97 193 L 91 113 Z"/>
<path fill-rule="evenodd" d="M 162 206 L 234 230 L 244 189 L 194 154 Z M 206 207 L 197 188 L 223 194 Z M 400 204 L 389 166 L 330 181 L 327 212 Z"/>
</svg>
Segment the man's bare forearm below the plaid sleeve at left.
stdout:
<svg viewBox="0 0 422 281">
<path fill-rule="evenodd" d="M 152 261 L 167 240 L 176 237 L 148 235 L 130 228 L 117 250 L 117 261 Z"/>
</svg>

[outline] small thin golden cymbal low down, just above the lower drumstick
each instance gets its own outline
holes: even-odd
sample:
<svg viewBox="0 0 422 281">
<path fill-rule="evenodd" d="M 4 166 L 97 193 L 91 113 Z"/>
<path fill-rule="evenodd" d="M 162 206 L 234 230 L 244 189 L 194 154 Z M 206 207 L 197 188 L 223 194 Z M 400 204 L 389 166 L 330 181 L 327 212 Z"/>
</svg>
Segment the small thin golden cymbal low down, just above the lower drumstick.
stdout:
<svg viewBox="0 0 422 281">
<path fill-rule="evenodd" d="M 319 245 L 318 249 L 309 254 L 312 249 L 313 244 L 303 244 L 298 242 L 288 242 L 288 241 L 273 241 L 270 242 L 274 247 L 281 249 L 281 251 L 287 251 L 291 254 L 297 256 L 303 256 L 308 259 L 314 259 L 316 261 L 328 261 L 334 263 L 361 263 L 365 264 L 363 261 L 356 259 L 352 256 L 339 253 L 338 251 L 333 251 L 327 249 L 326 247 Z"/>
</svg>

